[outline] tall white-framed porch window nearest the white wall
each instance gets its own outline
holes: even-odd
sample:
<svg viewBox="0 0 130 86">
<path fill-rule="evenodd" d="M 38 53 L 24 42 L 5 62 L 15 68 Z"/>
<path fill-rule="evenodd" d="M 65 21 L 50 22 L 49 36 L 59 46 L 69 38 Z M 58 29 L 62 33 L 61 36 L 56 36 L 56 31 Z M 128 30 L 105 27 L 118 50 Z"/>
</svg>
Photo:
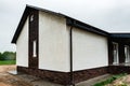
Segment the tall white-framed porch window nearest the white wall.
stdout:
<svg viewBox="0 0 130 86">
<path fill-rule="evenodd" d="M 113 42 L 113 54 L 114 54 L 114 61 L 113 64 L 119 63 L 119 57 L 118 57 L 118 43 Z"/>
</svg>

